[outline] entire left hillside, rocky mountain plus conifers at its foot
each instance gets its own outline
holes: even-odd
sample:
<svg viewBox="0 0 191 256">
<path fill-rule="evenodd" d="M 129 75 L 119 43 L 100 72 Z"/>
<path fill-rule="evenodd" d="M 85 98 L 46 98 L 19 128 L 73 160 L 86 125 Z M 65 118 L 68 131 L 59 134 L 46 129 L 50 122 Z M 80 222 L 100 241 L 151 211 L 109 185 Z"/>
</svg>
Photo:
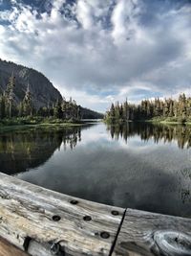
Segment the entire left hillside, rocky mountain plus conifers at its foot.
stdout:
<svg viewBox="0 0 191 256">
<path fill-rule="evenodd" d="M 103 118 L 72 97 L 64 99 L 40 72 L 0 58 L 0 119 L 33 116 L 70 121 Z"/>
</svg>

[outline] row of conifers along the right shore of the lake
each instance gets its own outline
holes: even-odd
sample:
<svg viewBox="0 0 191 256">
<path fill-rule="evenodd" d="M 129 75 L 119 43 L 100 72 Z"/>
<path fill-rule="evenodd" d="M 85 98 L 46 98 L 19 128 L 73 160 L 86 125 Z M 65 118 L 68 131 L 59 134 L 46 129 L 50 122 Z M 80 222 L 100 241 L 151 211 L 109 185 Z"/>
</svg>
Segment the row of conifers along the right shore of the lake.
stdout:
<svg viewBox="0 0 191 256">
<path fill-rule="evenodd" d="M 191 121 L 191 97 L 186 98 L 182 93 L 178 100 L 157 98 L 154 101 L 141 101 L 139 105 L 132 105 L 127 101 L 119 105 L 117 102 L 106 112 L 105 119 L 111 123 L 150 119 L 184 123 Z"/>
</svg>

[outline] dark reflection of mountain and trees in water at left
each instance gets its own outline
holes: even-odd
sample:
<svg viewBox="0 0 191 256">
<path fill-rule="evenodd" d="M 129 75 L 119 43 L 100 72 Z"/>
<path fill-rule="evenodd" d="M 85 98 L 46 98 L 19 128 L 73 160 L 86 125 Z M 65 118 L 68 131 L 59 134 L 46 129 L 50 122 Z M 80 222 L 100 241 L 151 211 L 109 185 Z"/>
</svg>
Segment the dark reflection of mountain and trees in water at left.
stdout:
<svg viewBox="0 0 191 256">
<path fill-rule="evenodd" d="M 81 128 L 30 128 L 11 131 L 0 136 L 1 172 L 15 174 L 26 172 L 44 164 L 53 152 L 67 147 L 74 149 L 81 140 Z"/>
</svg>

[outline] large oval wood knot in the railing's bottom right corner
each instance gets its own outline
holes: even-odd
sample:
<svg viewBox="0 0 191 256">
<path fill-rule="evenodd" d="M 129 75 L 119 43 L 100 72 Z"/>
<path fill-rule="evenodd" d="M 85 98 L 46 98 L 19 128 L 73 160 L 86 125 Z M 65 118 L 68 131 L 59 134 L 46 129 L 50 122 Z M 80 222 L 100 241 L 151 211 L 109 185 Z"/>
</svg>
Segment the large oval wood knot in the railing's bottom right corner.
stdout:
<svg viewBox="0 0 191 256">
<path fill-rule="evenodd" d="M 191 236 L 175 231 L 157 231 L 154 240 L 165 255 L 191 256 Z"/>
</svg>

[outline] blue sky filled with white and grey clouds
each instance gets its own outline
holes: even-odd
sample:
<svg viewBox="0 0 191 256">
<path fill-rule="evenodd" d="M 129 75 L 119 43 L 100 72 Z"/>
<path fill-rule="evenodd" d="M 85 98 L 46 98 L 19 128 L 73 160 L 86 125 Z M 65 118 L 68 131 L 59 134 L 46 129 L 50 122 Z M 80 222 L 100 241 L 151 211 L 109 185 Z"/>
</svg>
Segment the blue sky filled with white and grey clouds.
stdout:
<svg viewBox="0 0 191 256">
<path fill-rule="evenodd" d="M 191 95 L 191 0 L 0 0 L 0 58 L 100 112 Z"/>
</svg>

